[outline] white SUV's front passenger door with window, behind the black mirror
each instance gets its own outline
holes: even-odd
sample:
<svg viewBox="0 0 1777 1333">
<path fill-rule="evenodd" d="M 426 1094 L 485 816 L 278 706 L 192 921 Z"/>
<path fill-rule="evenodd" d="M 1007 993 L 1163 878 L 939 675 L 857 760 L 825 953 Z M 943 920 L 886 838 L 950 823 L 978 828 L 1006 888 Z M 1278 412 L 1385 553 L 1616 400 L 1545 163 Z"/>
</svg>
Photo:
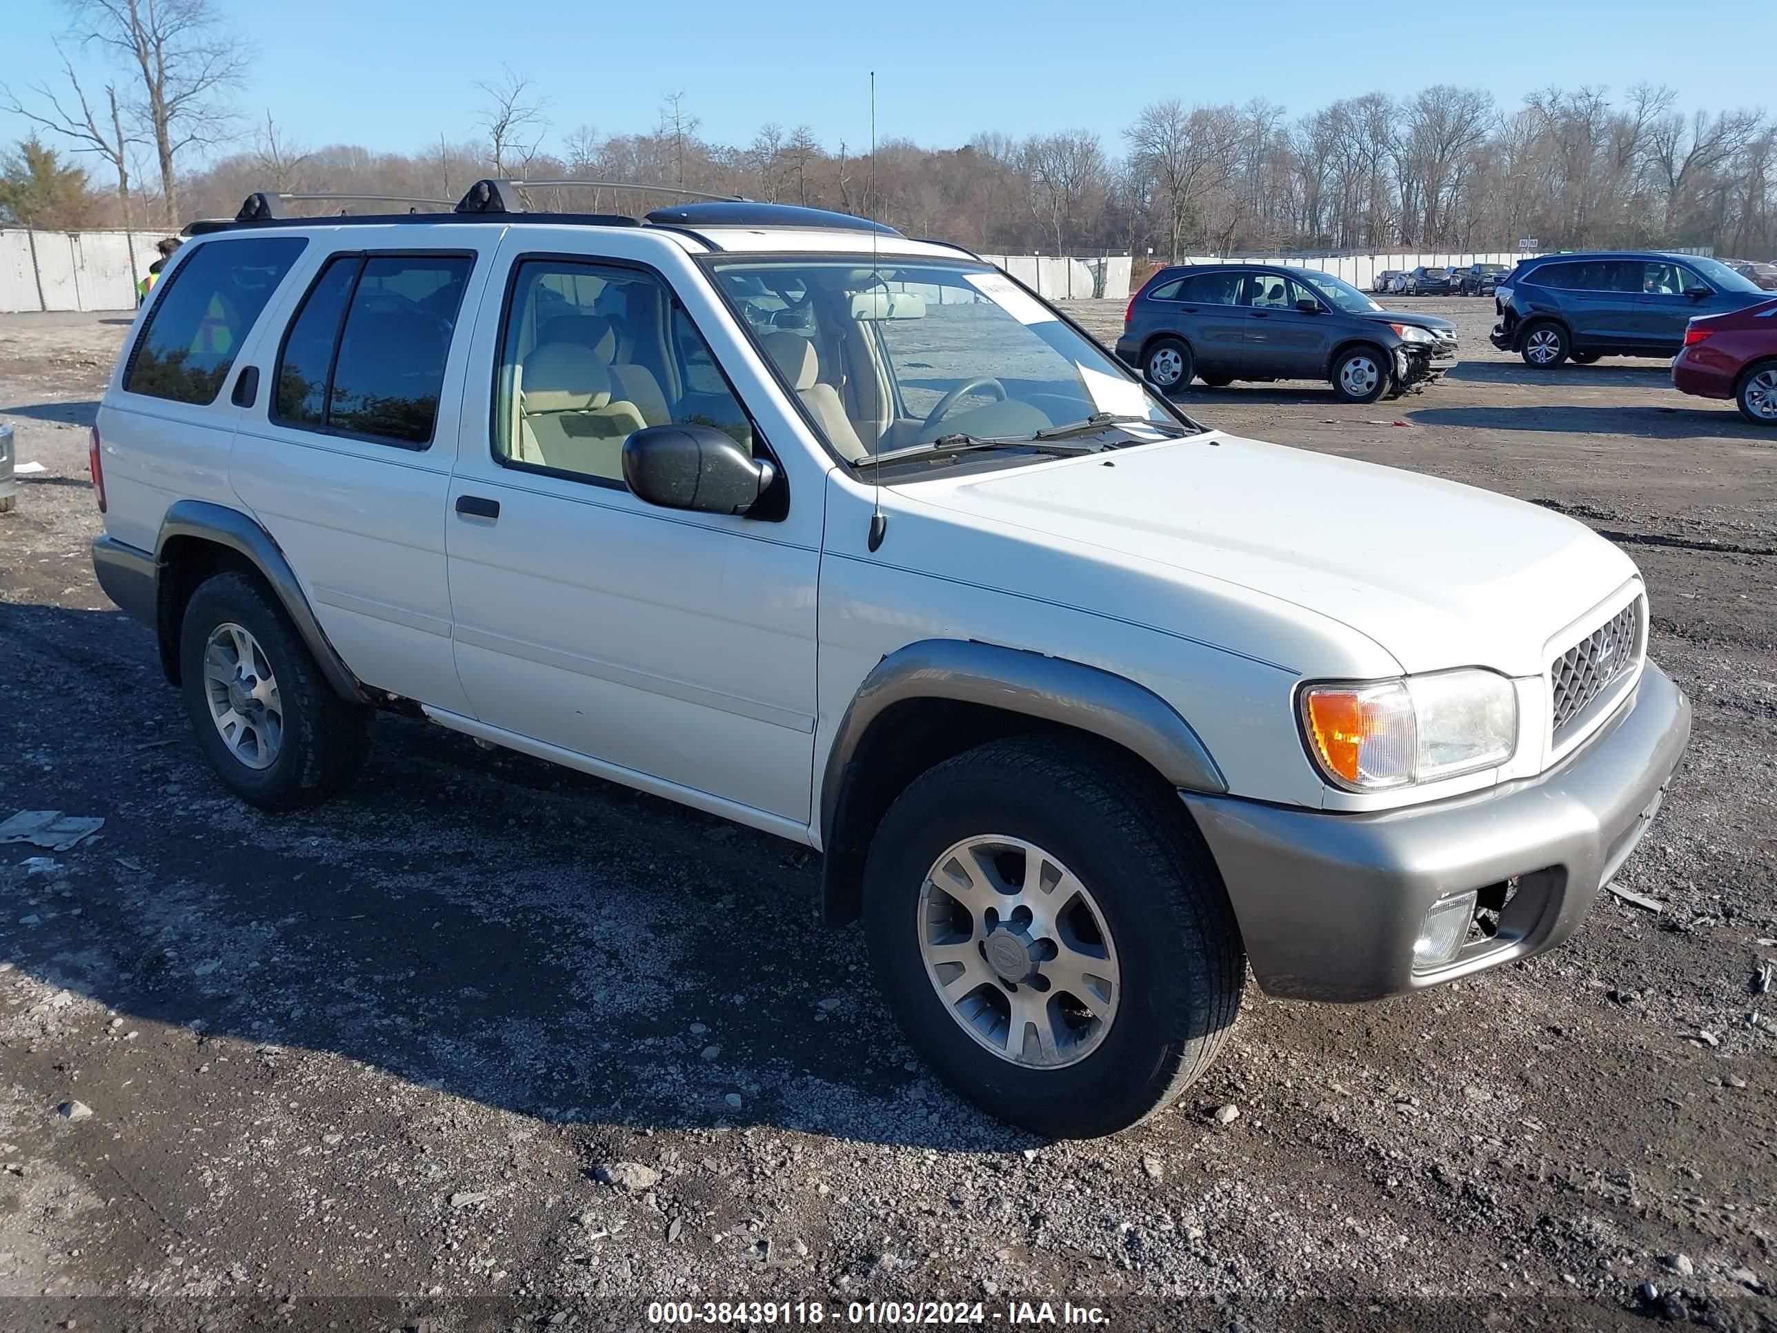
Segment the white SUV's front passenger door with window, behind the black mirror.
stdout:
<svg viewBox="0 0 1777 1333">
<path fill-rule="evenodd" d="M 762 453 L 784 428 L 761 384 L 748 411 L 723 373 L 748 364 L 745 334 L 689 258 L 666 274 L 649 256 L 586 227 L 501 247 L 444 505 L 457 670 L 487 727 L 793 832 L 810 818 L 821 496 L 729 517 L 624 485 L 643 427 L 714 425 Z"/>
</svg>

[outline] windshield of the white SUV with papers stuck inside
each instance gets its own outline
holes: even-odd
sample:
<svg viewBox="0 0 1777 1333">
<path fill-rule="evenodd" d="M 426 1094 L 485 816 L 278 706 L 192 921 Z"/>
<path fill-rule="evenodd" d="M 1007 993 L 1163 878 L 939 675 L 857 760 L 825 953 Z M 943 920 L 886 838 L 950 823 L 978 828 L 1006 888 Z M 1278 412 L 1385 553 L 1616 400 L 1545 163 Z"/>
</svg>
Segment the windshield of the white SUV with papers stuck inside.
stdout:
<svg viewBox="0 0 1777 1333">
<path fill-rule="evenodd" d="M 951 437 L 1034 441 L 1100 414 L 1121 418 L 1105 430 L 1139 439 L 1150 421 L 1180 430 L 1128 370 L 995 268 L 848 258 L 732 259 L 711 272 L 848 462 Z"/>
</svg>

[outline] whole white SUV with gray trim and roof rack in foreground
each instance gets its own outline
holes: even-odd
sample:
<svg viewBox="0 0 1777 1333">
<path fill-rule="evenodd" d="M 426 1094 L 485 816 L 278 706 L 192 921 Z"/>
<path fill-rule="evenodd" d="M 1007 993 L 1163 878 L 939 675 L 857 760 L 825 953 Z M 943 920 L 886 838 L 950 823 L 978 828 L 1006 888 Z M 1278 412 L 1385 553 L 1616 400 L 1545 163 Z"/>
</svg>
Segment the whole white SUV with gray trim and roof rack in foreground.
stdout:
<svg viewBox="0 0 1777 1333">
<path fill-rule="evenodd" d="M 1544 949 L 1690 734 L 1635 565 L 1199 427 L 970 252 L 697 203 L 201 224 L 100 409 L 100 581 L 222 782 L 377 709 L 825 851 L 908 1040 L 1118 1130 L 1246 969 L 1363 1001 Z"/>
</svg>

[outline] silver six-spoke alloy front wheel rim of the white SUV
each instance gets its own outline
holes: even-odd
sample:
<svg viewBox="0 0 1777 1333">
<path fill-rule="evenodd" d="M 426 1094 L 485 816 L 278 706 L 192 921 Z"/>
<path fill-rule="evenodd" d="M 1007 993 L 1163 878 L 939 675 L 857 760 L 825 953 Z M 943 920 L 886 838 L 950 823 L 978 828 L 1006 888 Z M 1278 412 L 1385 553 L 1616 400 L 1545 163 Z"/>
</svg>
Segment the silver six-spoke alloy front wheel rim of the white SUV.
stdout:
<svg viewBox="0 0 1777 1333">
<path fill-rule="evenodd" d="M 967 837 L 933 862 L 915 910 L 933 990 L 1000 1059 L 1063 1068 L 1111 1031 L 1116 946 L 1091 890 L 1043 848 Z"/>
</svg>

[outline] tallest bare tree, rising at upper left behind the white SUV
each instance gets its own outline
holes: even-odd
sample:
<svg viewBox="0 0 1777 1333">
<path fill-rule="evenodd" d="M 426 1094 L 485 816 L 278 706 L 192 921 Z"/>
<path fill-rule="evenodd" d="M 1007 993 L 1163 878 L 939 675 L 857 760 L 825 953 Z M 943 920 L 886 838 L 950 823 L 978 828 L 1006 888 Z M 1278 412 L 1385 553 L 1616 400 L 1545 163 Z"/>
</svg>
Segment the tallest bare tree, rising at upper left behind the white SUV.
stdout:
<svg viewBox="0 0 1777 1333">
<path fill-rule="evenodd" d="M 105 46 L 140 78 L 126 107 L 155 144 L 167 226 L 179 220 L 179 155 L 233 128 L 233 92 L 252 50 L 222 28 L 210 0 L 64 0 L 82 41 Z M 121 121 L 119 121 L 121 128 Z"/>
</svg>

